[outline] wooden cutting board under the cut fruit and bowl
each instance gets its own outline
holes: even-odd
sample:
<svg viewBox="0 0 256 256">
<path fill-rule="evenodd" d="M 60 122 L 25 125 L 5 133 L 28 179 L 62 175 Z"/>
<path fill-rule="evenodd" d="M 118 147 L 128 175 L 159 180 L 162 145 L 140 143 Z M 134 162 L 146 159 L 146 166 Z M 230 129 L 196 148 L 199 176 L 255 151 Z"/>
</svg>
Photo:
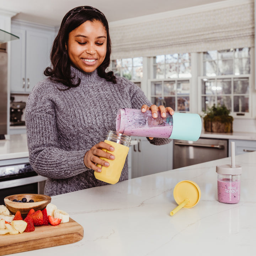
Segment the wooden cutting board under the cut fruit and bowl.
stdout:
<svg viewBox="0 0 256 256">
<path fill-rule="evenodd" d="M 0 235 L 0 255 L 73 244 L 83 236 L 83 227 L 69 218 L 69 222 L 58 226 L 36 226 L 35 230 L 29 233 Z"/>
</svg>

